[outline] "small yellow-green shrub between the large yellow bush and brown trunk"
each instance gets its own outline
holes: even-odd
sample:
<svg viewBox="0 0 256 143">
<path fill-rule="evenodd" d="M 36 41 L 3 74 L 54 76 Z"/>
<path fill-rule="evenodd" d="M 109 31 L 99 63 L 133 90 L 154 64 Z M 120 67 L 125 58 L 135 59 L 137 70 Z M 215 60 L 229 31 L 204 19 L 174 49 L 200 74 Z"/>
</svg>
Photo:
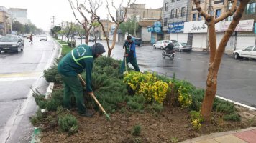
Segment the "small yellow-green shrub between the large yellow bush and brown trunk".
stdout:
<svg viewBox="0 0 256 143">
<path fill-rule="evenodd" d="M 189 107 L 191 105 L 192 97 L 186 87 L 180 86 L 178 88 L 178 101 L 180 102 L 181 107 Z"/>
</svg>

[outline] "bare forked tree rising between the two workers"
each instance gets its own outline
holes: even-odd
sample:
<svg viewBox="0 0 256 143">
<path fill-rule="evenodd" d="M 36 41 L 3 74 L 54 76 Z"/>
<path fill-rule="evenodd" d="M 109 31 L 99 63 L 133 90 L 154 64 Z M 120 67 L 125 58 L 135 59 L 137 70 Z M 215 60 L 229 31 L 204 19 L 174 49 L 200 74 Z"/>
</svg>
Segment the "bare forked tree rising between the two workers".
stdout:
<svg viewBox="0 0 256 143">
<path fill-rule="evenodd" d="M 89 0 L 91 1 L 91 0 Z M 134 0 L 133 3 L 135 3 L 136 0 Z M 124 0 L 121 1 L 119 8 L 122 7 Z M 91 7 L 93 7 L 92 3 Z M 131 0 L 129 0 L 127 2 L 127 7 L 129 7 L 129 5 L 131 4 Z M 119 11 L 119 9 L 116 8 L 116 6 L 114 6 L 114 1 L 111 1 L 111 5 L 114 7 L 114 9 L 116 9 L 116 11 Z M 115 29 L 114 29 L 114 38 L 112 41 L 111 46 L 109 45 L 109 36 L 106 34 L 106 31 L 108 31 L 108 29 L 104 28 L 104 25 L 101 22 L 100 17 L 93 12 L 93 9 L 91 9 L 91 14 L 93 14 L 93 16 L 97 19 L 97 21 L 99 22 L 99 24 L 101 24 L 101 29 L 104 32 L 104 36 L 106 37 L 106 44 L 108 46 L 108 56 L 111 56 L 111 51 L 114 49 L 114 46 L 116 45 L 116 34 L 117 34 L 117 30 L 119 29 L 120 24 L 122 24 L 122 22 L 124 22 L 124 20 L 127 18 L 127 7 L 124 8 L 124 15 L 122 16 L 121 20 L 115 19 L 114 16 L 111 14 L 110 10 L 109 10 L 109 2 L 106 0 L 106 8 L 108 9 L 109 15 L 111 16 L 112 21 L 114 21 L 114 23 L 116 24 Z"/>
</svg>

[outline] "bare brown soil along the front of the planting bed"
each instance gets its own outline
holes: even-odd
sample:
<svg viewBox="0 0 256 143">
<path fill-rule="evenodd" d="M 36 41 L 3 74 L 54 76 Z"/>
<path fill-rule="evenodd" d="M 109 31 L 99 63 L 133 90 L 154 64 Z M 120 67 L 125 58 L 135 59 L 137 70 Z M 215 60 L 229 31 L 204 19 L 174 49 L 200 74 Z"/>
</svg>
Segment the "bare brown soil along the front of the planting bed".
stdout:
<svg viewBox="0 0 256 143">
<path fill-rule="evenodd" d="M 99 113 L 93 117 L 80 117 L 76 112 L 72 114 L 78 119 L 78 132 L 68 135 L 60 132 L 58 127 L 42 132 L 41 142 L 180 142 L 193 137 L 212 132 L 224 132 L 256 126 L 255 111 L 237 107 L 242 120 L 227 122 L 222 120 L 221 114 L 214 113 L 210 124 L 203 124 L 196 130 L 191 126 L 189 113 L 185 109 L 173 107 L 165 109 L 160 114 L 124 112 L 111 114 L 111 121 Z M 142 127 L 139 136 L 132 135 L 133 127 Z"/>
</svg>

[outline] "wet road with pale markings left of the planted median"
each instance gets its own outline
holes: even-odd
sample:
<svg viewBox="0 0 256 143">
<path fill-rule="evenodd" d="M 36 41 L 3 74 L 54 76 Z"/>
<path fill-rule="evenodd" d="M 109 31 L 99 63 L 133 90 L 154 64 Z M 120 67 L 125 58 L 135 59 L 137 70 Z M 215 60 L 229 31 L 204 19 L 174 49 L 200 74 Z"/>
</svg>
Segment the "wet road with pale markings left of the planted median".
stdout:
<svg viewBox="0 0 256 143">
<path fill-rule="evenodd" d="M 30 87 L 45 92 L 47 82 L 42 71 L 49 66 L 58 53 L 55 43 L 24 39 L 24 51 L 0 54 L 0 142 L 28 142 L 33 127 L 29 116 L 35 114 L 36 106 Z"/>
</svg>

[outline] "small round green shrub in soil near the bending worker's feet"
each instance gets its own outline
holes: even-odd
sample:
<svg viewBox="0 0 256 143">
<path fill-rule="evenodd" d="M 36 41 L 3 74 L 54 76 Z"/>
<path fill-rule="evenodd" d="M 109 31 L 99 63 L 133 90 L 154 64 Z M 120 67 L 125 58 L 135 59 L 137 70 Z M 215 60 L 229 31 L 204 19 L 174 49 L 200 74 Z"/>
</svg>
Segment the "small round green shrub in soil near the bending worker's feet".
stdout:
<svg viewBox="0 0 256 143">
<path fill-rule="evenodd" d="M 73 134 L 78 131 L 78 121 L 72 114 L 65 114 L 58 119 L 58 125 L 63 132 Z"/>
</svg>

